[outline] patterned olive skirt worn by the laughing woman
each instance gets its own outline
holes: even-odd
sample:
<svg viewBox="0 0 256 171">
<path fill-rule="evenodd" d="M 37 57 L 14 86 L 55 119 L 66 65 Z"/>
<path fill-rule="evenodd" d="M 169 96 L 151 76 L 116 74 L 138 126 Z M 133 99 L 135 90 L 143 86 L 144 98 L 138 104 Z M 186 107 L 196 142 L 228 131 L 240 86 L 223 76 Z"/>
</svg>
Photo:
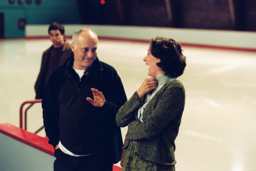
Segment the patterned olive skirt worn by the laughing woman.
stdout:
<svg viewBox="0 0 256 171">
<path fill-rule="evenodd" d="M 137 141 L 130 141 L 123 160 L 122 171 L 175 171 L 175 166 L 154 164 L 136 156 Z M 149 149 L 150 150 L 150 149 Z"/>
</svg>

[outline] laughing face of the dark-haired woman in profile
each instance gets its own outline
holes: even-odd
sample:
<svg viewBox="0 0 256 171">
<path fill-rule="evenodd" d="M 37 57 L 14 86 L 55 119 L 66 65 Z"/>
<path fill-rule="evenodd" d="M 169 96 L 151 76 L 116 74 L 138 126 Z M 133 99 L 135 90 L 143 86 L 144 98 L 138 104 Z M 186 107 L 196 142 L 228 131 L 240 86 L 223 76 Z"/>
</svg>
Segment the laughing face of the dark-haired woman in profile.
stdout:
<svg viewBox="0 0 256 171">
<path fill-rule="evenodd" d="M 158 75 L 165 73 L 164 71 L 161 70 L 160 67 L 157 66 L 157 63 L 160 62 L 161 60 L 158 58 L 155 58 L 151 54 L 150 48 L 148 49 L 148 54 L 143 58 L 143 61 L 147 66 L 149 66 L 148 76 L 157 77 Z"/>
</svg>

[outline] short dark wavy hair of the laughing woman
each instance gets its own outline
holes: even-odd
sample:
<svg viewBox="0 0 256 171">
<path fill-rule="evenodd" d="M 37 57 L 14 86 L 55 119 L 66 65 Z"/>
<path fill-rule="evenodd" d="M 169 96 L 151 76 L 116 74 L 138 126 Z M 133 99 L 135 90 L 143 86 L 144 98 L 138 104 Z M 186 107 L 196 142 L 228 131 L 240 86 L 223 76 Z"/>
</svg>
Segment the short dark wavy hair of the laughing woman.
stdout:
<svg viewBox="0 0 256 171">
<path fill-rule="evenodd" d="M 150 42 L 150 52 L 161 61 L 157 63 L 169 77 L 179 77 L 186 66 L 186 57 L 182 54 L 181 45 L 172 38 L 156 37 Z"/>
</svg>

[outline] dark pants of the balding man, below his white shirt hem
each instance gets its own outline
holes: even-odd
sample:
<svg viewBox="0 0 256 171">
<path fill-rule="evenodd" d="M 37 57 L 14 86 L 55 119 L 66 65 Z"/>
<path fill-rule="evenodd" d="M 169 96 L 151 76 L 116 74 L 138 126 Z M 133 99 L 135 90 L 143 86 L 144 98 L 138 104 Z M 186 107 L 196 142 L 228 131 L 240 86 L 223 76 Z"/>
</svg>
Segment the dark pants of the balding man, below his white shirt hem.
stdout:
<svg viewBox="0 0 256 171">
<path fill-rule="evenodd" d="M 113 164 L 106 162 L 106 158 L 90 156 L 73 157 L 60 149 L 55 150 L 56 160 L 54 171 L 112 171 Z"/>
</svg>

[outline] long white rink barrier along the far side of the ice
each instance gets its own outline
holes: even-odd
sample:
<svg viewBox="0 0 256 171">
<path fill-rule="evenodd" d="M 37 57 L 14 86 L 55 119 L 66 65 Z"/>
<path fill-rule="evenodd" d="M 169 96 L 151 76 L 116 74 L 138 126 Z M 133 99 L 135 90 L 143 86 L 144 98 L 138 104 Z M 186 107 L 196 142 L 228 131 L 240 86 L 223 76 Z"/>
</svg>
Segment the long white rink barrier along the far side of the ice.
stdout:
<svg viewBox="0 0 256 171">
<path fill-rule="evenodd" d="M 27 25 L 26 38 L 48 38 L 49 25 Z M 65 35 L 70 38 L 75 30 L 91 28 L 99 38 L 149 42 L 156 36 L 170 37 L 183 45 L 213 47 L 231 50 L 256 50 L 256 32 L 205 29 L 178 29 L 164 27 L 139 26 L 99 26 L 99 25 L 65 25 Z"/>
</svg>

